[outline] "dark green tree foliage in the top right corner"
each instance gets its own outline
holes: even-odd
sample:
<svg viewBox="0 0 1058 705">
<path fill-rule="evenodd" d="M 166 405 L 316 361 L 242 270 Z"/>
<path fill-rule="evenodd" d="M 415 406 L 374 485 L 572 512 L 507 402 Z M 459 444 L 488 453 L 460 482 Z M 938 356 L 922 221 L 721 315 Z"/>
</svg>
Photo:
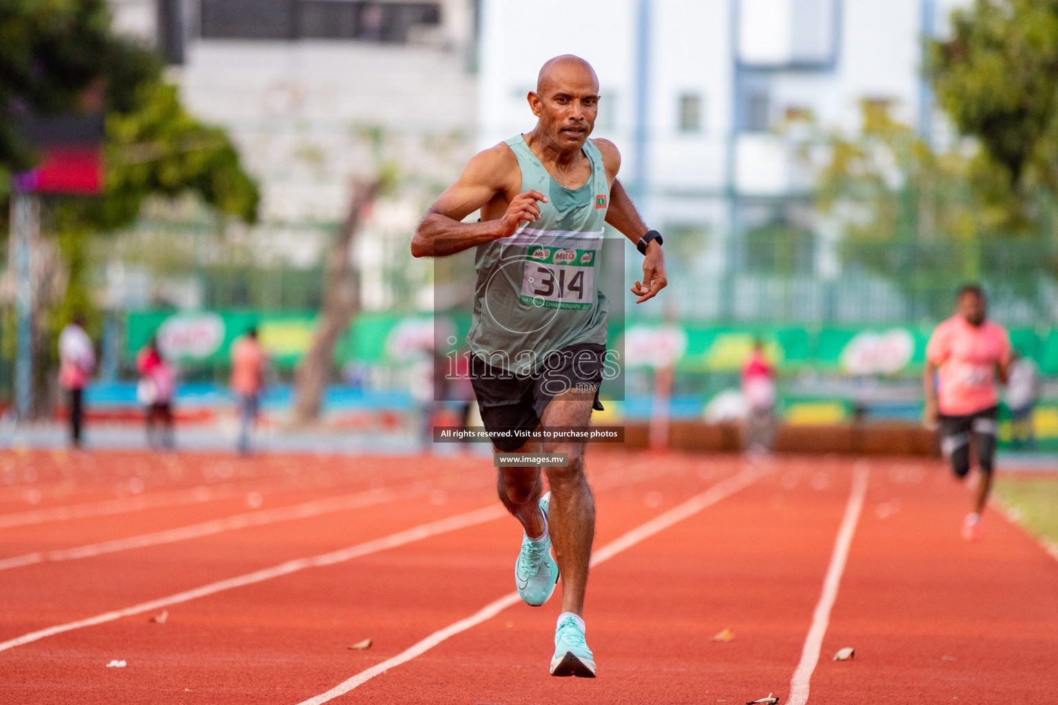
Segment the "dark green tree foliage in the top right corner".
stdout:
<svg viewBox="0 0 1058 705">
<path fill-rule="evenodd" d="M 1008 227 L 1030 227 L 1058 194 L 1058 0 L 975 0 L 951 27 L 930 45 L 938 103 L 982 147 L 974 189 Z"/>
</svg>

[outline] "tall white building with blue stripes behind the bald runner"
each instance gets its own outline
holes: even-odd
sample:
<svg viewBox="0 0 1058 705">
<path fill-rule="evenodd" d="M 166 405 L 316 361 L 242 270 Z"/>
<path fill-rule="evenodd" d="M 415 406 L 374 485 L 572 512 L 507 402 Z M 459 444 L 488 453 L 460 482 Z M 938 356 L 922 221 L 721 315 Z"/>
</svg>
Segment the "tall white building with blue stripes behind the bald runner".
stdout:
<svg viewBox="0 0 1058 705">
<path fill-rule="evenodd" d="M 932 130 L 922 39 L 943 32 L 956 4 L 965 2 L 537 0 L 527 14 L 518 3 L 486 0 L 478 146 L 530 129 L 526 93 L 540 66 L 580 55 L 600 79 L 595 134 L 622 150 L 622 180 L 677 253 L 670 305 L 699 317 L 841 317 L 825 291 L 840 276 L 833 237 L 807 222 L 811 174 L 776 130 L 790 118 L 855 130 L 864 98 Z M 645 135 L 638 144 L 637 124 Z M 783 282 L 755 273 L 760 253 L 744 237 L 769 223 L 816 230 Z M 780 284 L 783 293 L 769 292 Z M 778 298 L 800 308 L 769 310 Z"/>
</svg>

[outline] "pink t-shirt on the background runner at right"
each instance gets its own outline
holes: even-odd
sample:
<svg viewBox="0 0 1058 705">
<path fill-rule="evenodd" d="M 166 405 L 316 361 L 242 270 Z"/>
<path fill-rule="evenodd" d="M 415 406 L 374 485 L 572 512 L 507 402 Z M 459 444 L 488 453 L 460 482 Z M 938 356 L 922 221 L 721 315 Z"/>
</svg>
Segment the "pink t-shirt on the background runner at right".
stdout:
<svg viewBox="0 0 1058 705">
<path fill-rule="evenodd" d="M 926 357 L 940 368 L 941 413 L 965 416 L 999 404 L 996 366 L 1010 361 L 1010 337 L 990 320 L 974 327 L 954 315 L 933 331 Z"/>
</svg>

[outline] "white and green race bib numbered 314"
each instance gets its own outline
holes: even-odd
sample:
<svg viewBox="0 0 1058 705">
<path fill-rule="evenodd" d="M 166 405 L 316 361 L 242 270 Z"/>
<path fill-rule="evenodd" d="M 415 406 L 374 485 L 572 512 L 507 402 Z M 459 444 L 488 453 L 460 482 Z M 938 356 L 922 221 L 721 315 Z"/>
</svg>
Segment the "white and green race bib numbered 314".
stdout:
<svg viewBox="0 0 1058 705">
<path fill-rule="evenodd" d="M 595 251 L 530 247 L 518 300 L 543 309 L 587 311 L 595 303 Z"/>
</svg>

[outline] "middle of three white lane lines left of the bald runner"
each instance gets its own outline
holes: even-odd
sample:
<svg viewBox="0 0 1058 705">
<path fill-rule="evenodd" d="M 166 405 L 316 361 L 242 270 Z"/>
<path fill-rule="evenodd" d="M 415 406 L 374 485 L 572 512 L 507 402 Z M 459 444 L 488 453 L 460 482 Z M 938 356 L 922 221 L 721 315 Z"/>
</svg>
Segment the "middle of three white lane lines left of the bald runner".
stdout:
<svg viewBox="0 0 1058 705">
<path fill-rule="evenodd" d="M 352 495 L 328 497 L 326 499 L 304 502 L 302 504 L 280 506 L 274 509 L 261 509 L 259 512 L 237 514 L 231 517 L 212 519 L 209 521 L 203 521 L 187 526 L 178 526 L 176 528 L 167 528 L 161 532 L 152 532 L 150 534 L 141 534 L 139 536 L 113 539 L 111 541 L 90 543 L 75 549 L 58 549 L 55 551 L 28 553 L 22 556 L 12 556 L 11 558 L 0 559 L 0 571 L 19 568 L 22 565 L 32 565 L 34 563 L 89 558 L 91 556 L 98 556 L 105 553 L 116 553 L 118 551 L 143 549 L 145 546 L 159 545 L 162 543 L 186 541 L 189 539 L 200 538 L 202 536 L 212 536 L 222 532 L 247 528 L 248 526 L 263 526 L 264 524 L 274 524 L 280 521 L 308 519 L 310 517 L 318 517 L 324 514 L 345 512 L 348 509 L 370 506 L 372 504 L 382 504 L 384 502 L 393 502 L 401 499 L 412 499 L 424 495 L 428 487 L 428 483 L 424 482 L 414 483 L 394 490 L 380 487 L 377 489 L 368 489 L 367 491 L 354 493 Z"/>
</svg>

